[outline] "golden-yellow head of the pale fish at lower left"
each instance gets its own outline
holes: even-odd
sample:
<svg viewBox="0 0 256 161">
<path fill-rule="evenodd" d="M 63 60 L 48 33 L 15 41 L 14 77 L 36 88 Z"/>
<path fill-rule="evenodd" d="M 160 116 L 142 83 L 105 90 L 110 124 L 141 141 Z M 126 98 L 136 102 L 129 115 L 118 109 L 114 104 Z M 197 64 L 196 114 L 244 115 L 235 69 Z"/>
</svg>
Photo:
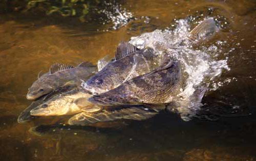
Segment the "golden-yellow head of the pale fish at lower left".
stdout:
<svg viewBox="0 0 256 161">
<path fill-rule="evenodd" d="M 65 99 L 49 100 L 45 103 L 40 104 L 35 109 L 30 111 L 33 116 L 59 116 L 65 115 L 69 111 L 69 107 L 72 105 Z"/>
</svg>

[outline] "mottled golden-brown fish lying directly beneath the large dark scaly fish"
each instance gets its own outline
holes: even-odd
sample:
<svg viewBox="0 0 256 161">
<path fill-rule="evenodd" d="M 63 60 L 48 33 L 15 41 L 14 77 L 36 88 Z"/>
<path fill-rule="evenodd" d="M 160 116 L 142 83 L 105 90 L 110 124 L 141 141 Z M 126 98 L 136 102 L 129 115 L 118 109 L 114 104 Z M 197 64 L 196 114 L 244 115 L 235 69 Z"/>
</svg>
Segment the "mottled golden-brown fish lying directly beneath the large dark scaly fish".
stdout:
<svg viewBox="0 0 256 161">
<path fill-rule="evenodd" d="M 86 126 L 97 122 L 109 122 L 120 119 L 145 120 L 155 116 L 158 112 L 157 109 L 150 109 L 144 105 L 132 105 L 114 111 L 103 110 L 99 113 L 82 112 L 71 117 L 68 124 Z"/>
</svg>

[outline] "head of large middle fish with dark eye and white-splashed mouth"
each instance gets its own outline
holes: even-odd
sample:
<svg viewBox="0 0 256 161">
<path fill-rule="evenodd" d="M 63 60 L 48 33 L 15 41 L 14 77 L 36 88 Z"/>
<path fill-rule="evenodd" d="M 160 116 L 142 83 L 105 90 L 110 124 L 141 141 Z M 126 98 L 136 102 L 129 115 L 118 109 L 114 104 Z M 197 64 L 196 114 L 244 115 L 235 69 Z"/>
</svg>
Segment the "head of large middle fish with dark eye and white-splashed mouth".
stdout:
<svg viewBox="0 0 256 161">
<path fill-rule="evenodd" d="M 116 87 L 116 79 L 108 72 L 98 73 L 82 83 L 83 92 L 93 95 L 107 92 Z"/>
</svg>

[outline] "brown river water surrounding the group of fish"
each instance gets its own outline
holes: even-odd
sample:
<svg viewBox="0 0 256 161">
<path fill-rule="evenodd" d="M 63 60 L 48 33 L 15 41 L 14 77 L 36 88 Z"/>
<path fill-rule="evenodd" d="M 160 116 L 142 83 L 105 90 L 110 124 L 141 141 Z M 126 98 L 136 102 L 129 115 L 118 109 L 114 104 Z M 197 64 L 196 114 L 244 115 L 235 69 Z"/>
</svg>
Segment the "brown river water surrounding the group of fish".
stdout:
<svg viewBox="0 0 256 161">
<path fill-rule="evenodd" d="M 122 3 L 120 12 L 126 10 L 134 18 L 117 25 L 117 30 L 113 28 L 115 19 L 114 23 L 98 24 L 40 13 L 1 14 L 1 160 L 256 160 L 255 7 L 249 0 L 131 0 Z M 28 88 L 52 63 L 96 63 L 106 54 L 113 56 L 121 40 L 156 29 L 186 34 L 205 17 L 214 17 L 220 28 L 210 41 L 193 47 L 175 46 L 180 59 L 196 60 L 182 63 L 187 69 L 184 76 L 190 78 L 181 91 L 183 97 L 190 95 L 197 83 L 209 88 L 200 115 L 191 121 L 182 120 L 181 109 L 179 113 L 162 111 L 145 121 L 90 127 L 62 124 L 68 116 L 16 122 L 30 104 Z M 173 44 L 160 43 L 159 49 L 168 45 Z M 191 67 L 195 70 L 188 70 Z M 40 126 L 31 132 L 31 127 L 42 124 L 55 126 Z"/>
</svg>

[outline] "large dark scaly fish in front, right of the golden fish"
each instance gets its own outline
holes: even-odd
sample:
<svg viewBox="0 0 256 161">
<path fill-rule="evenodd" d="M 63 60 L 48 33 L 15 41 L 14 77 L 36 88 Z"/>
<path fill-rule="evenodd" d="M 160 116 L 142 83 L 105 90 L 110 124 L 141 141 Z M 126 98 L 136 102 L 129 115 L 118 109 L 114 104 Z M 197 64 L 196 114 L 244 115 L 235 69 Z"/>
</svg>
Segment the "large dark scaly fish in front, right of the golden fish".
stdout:
<svg viewBox="0 0 256 161">
<path fill-rule="evenodd" d="M 103 106 L 168 103 L 180 92 L 181 79 L 179 61 L 167 57 L 154 71 L 130 79 L 119 87 L 94 95 L 88 100 Z"/>
</svg>

